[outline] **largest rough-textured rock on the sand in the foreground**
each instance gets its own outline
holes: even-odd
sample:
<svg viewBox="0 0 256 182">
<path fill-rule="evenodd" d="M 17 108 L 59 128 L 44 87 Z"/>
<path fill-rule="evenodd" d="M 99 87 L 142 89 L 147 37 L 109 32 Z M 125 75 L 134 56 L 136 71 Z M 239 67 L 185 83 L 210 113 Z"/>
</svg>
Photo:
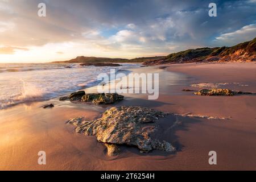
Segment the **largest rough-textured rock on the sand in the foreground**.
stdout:
<svg viewBox="0 0 256 182">
<path fill-rule="evenodd" d="M 155 121 L 165 116 L 161 111 L 144 107 L 112 107 L 101 118 L 79 122 L 76 132 L 95 136 L 103 143 L 137 146 L 143 152 L 154 149 L 172 152 L 175 148 L 170 143 L 151 137 L 158 129 Z M 74 123 L 71 120 L 68 122 Z M 110 153 L 112 151 L 116 150 L 111 149 Z"/>
</svg>

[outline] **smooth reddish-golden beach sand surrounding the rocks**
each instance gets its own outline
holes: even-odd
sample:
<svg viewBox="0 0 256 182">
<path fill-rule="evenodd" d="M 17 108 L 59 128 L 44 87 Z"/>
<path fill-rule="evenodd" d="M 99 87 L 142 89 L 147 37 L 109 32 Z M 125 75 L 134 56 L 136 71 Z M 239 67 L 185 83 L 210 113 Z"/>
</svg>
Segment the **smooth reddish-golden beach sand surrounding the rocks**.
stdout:
<svg viewBox="0 0 256 182">
<path fill-rule="evenodd" d="M 172 64 L 166 69 L 146 67 L 134 72 L 159 72 L 160 96 L 124 94 L 116 105 L 145 106 L 165 112 L 208 115 L 228 119 L 170 116 L 159 121 L 159 137 L 174 144 L 175 154 L 152 151 L 141 154 L 121 147 L 122 154 L 106 156 L 95 137 L 74 133 L 69 118 L 100 117 L 114 105 L 94 106 L 49 101 L 30 102 L 0 110 L 1 170 L 246 170 L 256 169 L 256 96 L 195 96 L 191 84 L 229 83 L 223 87 L 256 92 L 256 64 Z M 172 77 L 172 79 L 170 78 Z M 175 77 L 181 78 L 178 82 Z M 170 80 L 171 79 L 171 80 Z M 238 84 L 239 83 L 239 84 Z M 246 85 L 246 86 L 245 86 Z M 85 90 L 87 93 L 90 90 Z M 42 109 L 53 103 L 55 107 Z M 171 128 L 174 122 L 178 125 Z M 38 164 L 38 152 L 46 151 L 46 165 Z M 217 165 L 209 165 L 209 151 L 217 152 Z"/>
</svg>

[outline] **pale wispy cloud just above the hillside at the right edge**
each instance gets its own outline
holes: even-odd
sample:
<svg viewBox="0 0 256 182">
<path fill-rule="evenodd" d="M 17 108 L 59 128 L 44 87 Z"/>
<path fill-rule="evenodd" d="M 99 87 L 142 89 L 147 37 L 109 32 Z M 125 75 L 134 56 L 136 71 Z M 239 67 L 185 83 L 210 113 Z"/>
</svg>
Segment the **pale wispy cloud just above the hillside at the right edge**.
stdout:
<svg viewBox="0 0 256 182">
<path fill-rule="evenodd" d="M 244 41 L 254 39 L 256 36 L 256 24 L 243 26 L 239 30 L 221 34 L 216 38 L 216 42 L 225 43 L 228 45 L 238 44 Z"/>
</svg>

